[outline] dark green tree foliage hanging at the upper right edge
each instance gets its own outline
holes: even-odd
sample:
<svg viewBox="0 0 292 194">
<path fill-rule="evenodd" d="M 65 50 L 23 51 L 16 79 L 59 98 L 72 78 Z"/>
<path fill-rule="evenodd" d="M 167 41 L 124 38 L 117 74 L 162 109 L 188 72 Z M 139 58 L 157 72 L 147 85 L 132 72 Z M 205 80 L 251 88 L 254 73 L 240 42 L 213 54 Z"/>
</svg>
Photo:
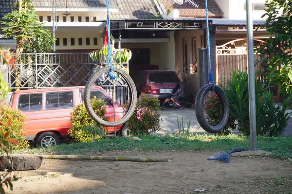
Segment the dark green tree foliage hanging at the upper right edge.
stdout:
<svg viewBox="0 0 292 194">
<path fill-rule="evenodd" d="M 257 52 L 267 68 L 267 80 L 279 85 L 284 96 L 292 93 L 292 1 L 266 0 L 266 33 L 269 38 Z M 278 68 L 279 67 L 279 68 Z"/>
</svg>

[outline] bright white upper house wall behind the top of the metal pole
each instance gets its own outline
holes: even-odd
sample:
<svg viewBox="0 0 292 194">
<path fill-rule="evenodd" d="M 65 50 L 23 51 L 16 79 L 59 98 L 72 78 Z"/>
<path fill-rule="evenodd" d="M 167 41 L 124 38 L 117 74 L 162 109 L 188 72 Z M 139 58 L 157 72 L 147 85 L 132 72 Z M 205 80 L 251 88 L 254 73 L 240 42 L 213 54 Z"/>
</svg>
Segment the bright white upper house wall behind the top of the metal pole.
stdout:
<svg viewBox="0 0 292 194">
<path fill-rule="evenodd" d="M 216 0 L 219 7 L 224 12 L 224 18 L 228 19 L 246 19 L 245 2 L 246 0 Z M 264 7 L 262 10 L 257 10 L 258 4 L 264 4 L 265 0 L 252 0 L 253 2 L 253 19 L 261 18 L 265 14 Z"/>
</svg>

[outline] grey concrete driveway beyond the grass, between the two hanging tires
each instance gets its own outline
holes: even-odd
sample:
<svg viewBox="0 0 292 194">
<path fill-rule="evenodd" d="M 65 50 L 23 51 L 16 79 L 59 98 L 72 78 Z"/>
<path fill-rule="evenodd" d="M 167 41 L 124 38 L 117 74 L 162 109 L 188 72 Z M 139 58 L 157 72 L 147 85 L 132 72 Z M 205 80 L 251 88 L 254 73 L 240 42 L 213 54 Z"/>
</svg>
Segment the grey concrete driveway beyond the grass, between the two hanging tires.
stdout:
<svg viewBox="0 0 292 194">
<path fill-rule="evenodd" d="M 163 120 L 161 122 L 162 130 L 153 134 L 178 133 L 179 128 L 177 118 L 180 118 L 182 120 L 182 117 L 185 128 L 189 120 L 191 120 L 190 132 L 210 134 L 200 127 L 194 109 L 185 108 L 183 111 L 180 111 L 174 110 L 173 108 L 168 108 L 168 110 L 160 111 L 160 113 Z M 236 130 L 233 131 L 233 133 L 238 132 L 239 131 Z M 289 120 L 289 125 L 286 127 L 284 136 L 292 136 L 292 119 Z"/>
</svg>

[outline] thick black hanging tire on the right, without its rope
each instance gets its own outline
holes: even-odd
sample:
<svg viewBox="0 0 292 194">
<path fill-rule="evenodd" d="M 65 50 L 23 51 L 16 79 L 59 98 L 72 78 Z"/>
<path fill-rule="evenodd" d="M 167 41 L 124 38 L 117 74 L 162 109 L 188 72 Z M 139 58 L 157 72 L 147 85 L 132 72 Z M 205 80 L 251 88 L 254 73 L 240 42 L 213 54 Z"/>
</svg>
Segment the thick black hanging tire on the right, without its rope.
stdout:
<svg viewBox="0 0 292 194">
<path fill-rule="evenodd" d="M 220 99 L 222 114 L 220 118 L 220 122 L 216 126 L 210 126 L 208 121 L 206 120 L 204 114 L 204 97 L 210 91 L 213 91 L 213 84 L 206 84 L 204 85 L 197 94 L 196 101 L 195 101 L 195 108 L 196 108 L 196 117 L 198 123 L 200 124 L 201 128 L 209 133 L 219 133 L 222 131 L 227 124 L 228 117 L 229 117 L 229 102 L 225 92 L 220 88 L 218 85 L 215 85 L 216 94 Z"/>
</svg>

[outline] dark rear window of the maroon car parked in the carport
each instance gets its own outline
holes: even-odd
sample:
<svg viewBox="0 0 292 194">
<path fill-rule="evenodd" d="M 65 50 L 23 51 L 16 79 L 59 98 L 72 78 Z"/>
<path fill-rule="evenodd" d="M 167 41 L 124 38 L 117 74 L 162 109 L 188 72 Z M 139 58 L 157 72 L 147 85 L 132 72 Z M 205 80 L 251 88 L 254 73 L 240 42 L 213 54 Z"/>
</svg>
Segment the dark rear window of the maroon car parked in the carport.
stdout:
<svg viewBox="0 0 292 194">
<path fill-rule="evenodd" d="M 173 71 L 171 72 L 155 72 L 149 73 L 150 83 L 174 83 L 180 82 L 177 74 Z"/>
</svg>

